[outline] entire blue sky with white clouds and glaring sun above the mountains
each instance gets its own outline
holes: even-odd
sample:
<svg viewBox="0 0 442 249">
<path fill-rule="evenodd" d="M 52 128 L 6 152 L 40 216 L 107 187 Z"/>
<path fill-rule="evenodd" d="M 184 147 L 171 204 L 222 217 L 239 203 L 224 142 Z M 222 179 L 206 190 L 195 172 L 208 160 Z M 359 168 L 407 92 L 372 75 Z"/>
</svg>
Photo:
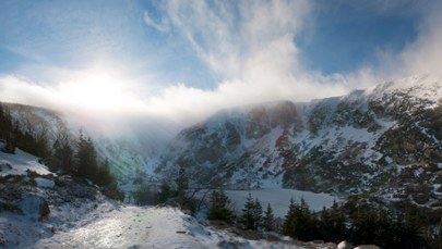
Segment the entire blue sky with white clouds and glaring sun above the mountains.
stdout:
<svg viewBox="0 0 442 249">
<path fill-rule="evenodd" d="M 439 73 L 441 10 L 437 0 L 1 0 L 0 100 L 184 127 L 226 108 L 341 96 Z"/>
</svg>

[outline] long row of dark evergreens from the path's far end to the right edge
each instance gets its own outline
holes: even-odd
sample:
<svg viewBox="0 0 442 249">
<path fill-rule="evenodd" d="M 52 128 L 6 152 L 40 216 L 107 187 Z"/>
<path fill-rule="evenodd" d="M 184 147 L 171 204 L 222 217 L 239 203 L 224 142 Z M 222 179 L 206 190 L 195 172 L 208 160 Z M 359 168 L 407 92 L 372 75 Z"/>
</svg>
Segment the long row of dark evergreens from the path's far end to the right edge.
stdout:
<svg viewBox="0 0 442 249">
<path fill-rule="evenodd" d="M 348 199 L 346 203 L 333 202 L 330 209 L 320 212 L 310 210 L 303 198 L 289 201 L 284 219 L 276 217 L 268 203 L 263 209 L 259 198 L 249 194 L 243 208 L 235 212 L 234 203 L 219 190 L 210 190 L 205 207 L 201 206 L 204 196 L 193 195 L 189 188 L 186 169 L 179 166 L 176 178 L 163 182 L 157 191 L 147 185 L 134 192 L 139 204 L 170 204 L 195 213 L 207 210 L 207 220 L 223 222 L 243 231 L 276 232 L 302 241 L 323 240 L 354 245 L 374 244 L 381 248 L 442 248 L 442 226 L 439 233 L 426 236 L 428 222 L 422 221 L 416 209 L 392 212 L 374 203 Z M 144 195 L 146 194 L 146 195 Z"/>
</svg>

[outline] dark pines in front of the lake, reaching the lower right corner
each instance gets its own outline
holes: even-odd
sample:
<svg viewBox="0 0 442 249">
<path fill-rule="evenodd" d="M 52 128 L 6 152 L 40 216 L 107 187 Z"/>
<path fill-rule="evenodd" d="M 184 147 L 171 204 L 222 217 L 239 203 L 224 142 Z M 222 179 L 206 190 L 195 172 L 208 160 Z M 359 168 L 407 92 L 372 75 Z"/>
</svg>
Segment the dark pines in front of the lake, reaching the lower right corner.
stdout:
<svg viewBox="0 0 442 249">
<path fill-rule="evenodd" d="M 353 206 L 353 203 L 350 204 Z M 368 203 L 339 206 L 313 213 L 307 202 L 290 199 L 287 214 L 278 226 L 271 206 L 265 212 L 258 198 L 249 194 L 239 216 L 223 190 L 214 190 L 210 200 L 208 220 L 224 221 L 248 231 L 274 231 L 302 241 L 323 240 L 354 245 L 374 244 L 381 248 L 442 248 L 442 223 L 439 232 L 425 236 L 427 226 L 414 209 L 392 213 Z"/>
</svg>

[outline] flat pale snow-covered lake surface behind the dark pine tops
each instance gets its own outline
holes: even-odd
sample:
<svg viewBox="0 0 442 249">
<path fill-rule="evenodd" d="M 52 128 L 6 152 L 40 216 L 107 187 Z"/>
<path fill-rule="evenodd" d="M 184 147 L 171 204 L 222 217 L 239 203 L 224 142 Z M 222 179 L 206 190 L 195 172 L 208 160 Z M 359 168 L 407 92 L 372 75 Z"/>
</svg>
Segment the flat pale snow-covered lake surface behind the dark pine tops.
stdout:
<svg viewBox="0 0 442 249">
<path fill-rule="evenodd" d="M 258 197 L 263 209 L 270 203 L 275 216 L 279 217 L 284 217 L 287 214 L 290 198 L 294 198 L 295 202 L 298 203 L 303 198 L 310 210 L 315 212 L 321 211 L 324 207 L 332 207 L 335 200 L 338 201 L 336 197 L 328 194 L 315 194 L 295 189 L 226 190 L 225 192 L 234 202 L 237 211 L 240 211 L 244 207 L 250 192 L 253 198 Z"/>
</svg>

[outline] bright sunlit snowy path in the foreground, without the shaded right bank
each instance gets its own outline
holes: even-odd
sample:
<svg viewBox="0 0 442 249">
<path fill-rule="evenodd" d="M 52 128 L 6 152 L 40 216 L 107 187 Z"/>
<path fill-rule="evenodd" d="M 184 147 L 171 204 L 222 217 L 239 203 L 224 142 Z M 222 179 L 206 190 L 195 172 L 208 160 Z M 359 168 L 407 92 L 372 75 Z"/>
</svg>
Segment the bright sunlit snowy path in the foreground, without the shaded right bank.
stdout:
<svg viewBox="0 0 442 249">
<path fill-rule="evenodd" d="M 40 240 L 36 248 L 205 248 L 211 240 L 190 233 L 175 209 L 126 207 L 68 233 Z M 194 227 L 193 227 L 194 228 Z M 202 229 L 201 229 L 202 231 Z M 178 232 L 178 233 L 177 233 Z"/>
</svg>

